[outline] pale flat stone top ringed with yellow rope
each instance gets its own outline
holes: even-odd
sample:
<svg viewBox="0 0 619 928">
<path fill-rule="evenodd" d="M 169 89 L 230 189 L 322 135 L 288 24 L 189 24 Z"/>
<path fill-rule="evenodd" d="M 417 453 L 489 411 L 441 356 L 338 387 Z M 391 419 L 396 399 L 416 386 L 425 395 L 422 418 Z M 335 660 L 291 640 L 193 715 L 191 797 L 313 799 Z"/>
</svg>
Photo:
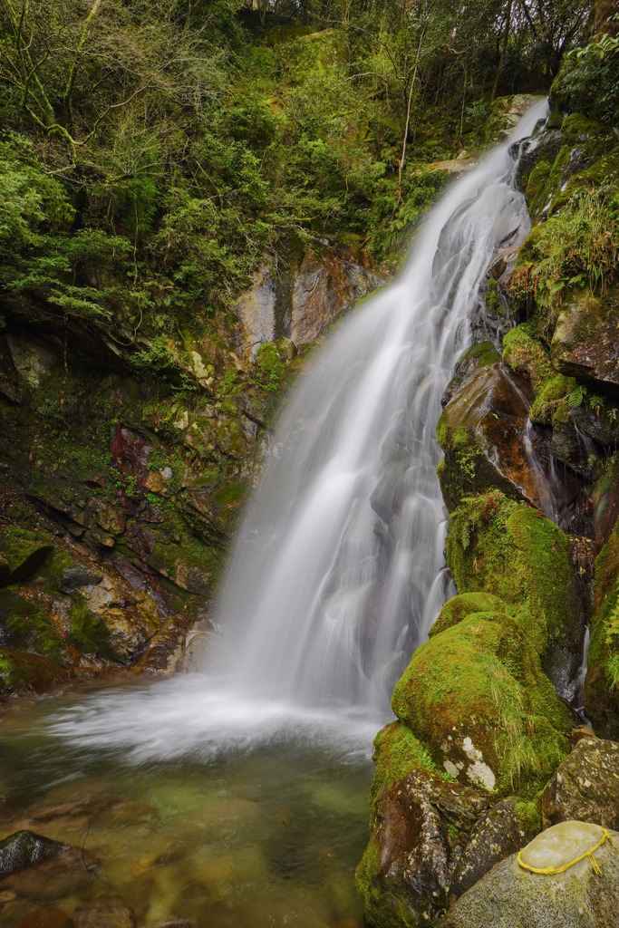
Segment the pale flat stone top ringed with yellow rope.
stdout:
<svg viewBox="0 0 619 928">
<path fill-rule="evenodd" d="M 610 840 L 609 831 L 601 825 L 563 821 L 542 831 L 523 847 L 518 854 L 518 863 L 532 873 L 554 876 L 587 858 L 593 870 L 600 875 L 600 865 L 593 855 L 605 841 Z"/>
</svg>

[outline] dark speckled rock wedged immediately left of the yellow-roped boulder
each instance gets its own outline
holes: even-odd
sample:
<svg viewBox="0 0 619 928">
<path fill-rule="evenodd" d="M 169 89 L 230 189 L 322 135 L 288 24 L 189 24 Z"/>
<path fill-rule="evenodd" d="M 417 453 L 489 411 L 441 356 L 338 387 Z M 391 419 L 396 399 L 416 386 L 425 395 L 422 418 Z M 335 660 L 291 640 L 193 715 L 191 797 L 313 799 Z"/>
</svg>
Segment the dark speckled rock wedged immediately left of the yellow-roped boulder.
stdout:
<svg viewBox="0 0 619 928">
<path fill-rule="evenodd" d="M 450 896 L 462 896 L 495 864 L 535 837 L 542 823 L 531 806 L 509 796 L 482 813 L 452 874 Z"/>
</svg>

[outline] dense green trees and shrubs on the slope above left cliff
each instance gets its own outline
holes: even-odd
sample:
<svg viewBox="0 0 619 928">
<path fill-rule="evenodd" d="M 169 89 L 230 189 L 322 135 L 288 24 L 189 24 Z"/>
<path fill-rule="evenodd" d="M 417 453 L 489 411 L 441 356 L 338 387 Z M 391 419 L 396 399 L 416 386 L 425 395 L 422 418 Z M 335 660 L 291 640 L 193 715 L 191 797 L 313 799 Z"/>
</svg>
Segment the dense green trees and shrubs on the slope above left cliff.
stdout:
<svg viewBox="0 0 619 928">
<path fill-rule="evenodd" d="M 440 184 L 428 164 L 483 144 L 496 93 L 548 87 L 591 29 L 577 0 L 251 6 L 3 0 L 9 293 L 131 344 L 228 304 L 290 236 L 382 259 Z"/>
</svg>

